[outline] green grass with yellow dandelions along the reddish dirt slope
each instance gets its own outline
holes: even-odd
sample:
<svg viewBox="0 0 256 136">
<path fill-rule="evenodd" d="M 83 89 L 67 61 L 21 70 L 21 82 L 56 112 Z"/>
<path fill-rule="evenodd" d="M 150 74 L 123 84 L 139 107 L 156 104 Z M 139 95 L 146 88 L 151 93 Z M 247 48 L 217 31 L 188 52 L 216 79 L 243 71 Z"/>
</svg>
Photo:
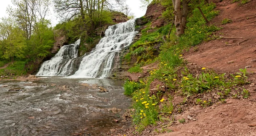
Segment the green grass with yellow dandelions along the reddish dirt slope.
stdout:
<svg viewBox="0 0 256 136">
<path fill-rule="evenodd" d="M 201 7 L 208 20 L 218 15 L 219 11 L 214 10 L 214 8 L 214 4 L 210 4 L 209 6 L 203 5 Z M 148 42 L 156 43 L 161 41 L 161 36 L 167 35 L 169 29 L 171 29 L 170 26 L 169 24 L 150 34 L 145 34 L 149 30 L 147 27 L 142 32 L 142 38 L 131 46 L 131 54 L 137 55 L 137 58 L 145 55 L 144 53 L 148 52 L 146 49 L 148 46 L 151 46 Z M 131 95 L 133 100 L 132 107 L 135 110 L 132 113 L 132 117 L 137 131 L 141 132 L 149 124 L 156 124 L 163 116 L 172 116 L 174 109 L 171 102 L 172 96 L 163 97 L 166 95 L 165 93 L 160 91 L 152 93 L 150 91 L 151 82 L 155 79 L 161 81 L 169 88 L 167 92 L 170 93 L 172 91 L 187 98 L 212 90 L 218 90 L 219 93 L 223 94 L 224 98 L 230 94 L 231 87 L 247 84 L 246 69 L 241 69 L 241 73 L 228 76 L 225 74 L 219 75 L 207 68 L 202 68 L 201 74 L 193 75 L 186 67 L 182 53 L 203 41 L 212 40 L 212 32 L 218 31 L 219 29 L 216 26 L 207 26 L 199 10 L 194 9 L 186 23 L 185 34 L 177 37 L 175 35 L 175 28 L 173 28 L 169 39 L 167 39 L 168 42 L 163 43 L 161 46 L 159 56 L 154 58 L 154 60 L 160 62 L 159 66 L 149 71 L 150 75 L 144 81 L 125 82 L 125 94 Z M 157 89 L 160 90 L 160 88 L 159 84 Z M 247 97 L 248 93 L 244 91 L 243 94 L 244 97 Z M 198 100 L 198 104 L 207 107 L 212 103 L 209 100 L 200 99 L 200 101 Z"/>
</svg>

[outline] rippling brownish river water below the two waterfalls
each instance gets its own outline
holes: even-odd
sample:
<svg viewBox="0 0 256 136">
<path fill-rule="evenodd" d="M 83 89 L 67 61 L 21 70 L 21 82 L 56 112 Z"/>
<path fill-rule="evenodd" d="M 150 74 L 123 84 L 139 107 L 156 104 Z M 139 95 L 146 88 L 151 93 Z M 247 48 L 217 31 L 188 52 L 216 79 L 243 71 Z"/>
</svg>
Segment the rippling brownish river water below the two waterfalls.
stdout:
<svg viewBox="0 0 256 136">
<path fill-rule="evenodd" d="M 0 136 L 105 136 L 127 125 L 120 121 L 131 99 L 123 95 L 122 84 L 61 77 L 0 81 Z M 109 92 L 100 93 L 99 86 Z"/>
</svg>

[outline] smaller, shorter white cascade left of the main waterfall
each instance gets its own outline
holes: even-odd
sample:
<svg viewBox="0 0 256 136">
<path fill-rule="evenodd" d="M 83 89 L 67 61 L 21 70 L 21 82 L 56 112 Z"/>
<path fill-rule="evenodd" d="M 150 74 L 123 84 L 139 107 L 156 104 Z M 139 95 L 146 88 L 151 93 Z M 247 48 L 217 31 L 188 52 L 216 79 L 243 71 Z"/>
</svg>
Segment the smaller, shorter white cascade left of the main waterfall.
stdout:
<svg viewBox="0 0 256 136">
<path fill-rule="evenodd" d="M 49 61 L 45 61 L 39 76 L 65 76 L 73 71 L 74 59 L 78 56 L 80 39 L 74 44 L 62 46 L 58 53 Z"/>
</svg>

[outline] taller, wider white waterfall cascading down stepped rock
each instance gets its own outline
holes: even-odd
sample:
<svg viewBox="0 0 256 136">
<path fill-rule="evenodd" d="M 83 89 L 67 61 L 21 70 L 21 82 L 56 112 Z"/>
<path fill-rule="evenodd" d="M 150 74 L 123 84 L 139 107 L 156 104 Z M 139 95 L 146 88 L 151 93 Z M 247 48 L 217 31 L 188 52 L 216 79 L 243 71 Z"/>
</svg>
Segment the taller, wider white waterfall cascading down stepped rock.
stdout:
<svg viewBox="0 0 256 136">
<path fill-rule="evenodd" d="M 118 52 L 129 46 L 137 34 L 135 20 L 128 20 L 109 26 L 105 37 L 92 52 L 84 55 L 78 71 L 69 78 L 105 78 L 110 75 L 113 58 Z"/>
</svg>

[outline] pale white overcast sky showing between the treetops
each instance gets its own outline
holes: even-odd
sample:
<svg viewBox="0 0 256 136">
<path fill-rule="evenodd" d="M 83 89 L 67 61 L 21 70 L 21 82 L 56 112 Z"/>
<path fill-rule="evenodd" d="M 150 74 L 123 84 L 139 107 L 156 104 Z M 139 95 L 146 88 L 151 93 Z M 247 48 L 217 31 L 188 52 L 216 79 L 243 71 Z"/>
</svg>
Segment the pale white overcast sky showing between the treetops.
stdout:
<svg viewBox="0 0 256 136">
<path fill-rule="evenodd" d="M 140 0 L 127 0 L 126 4 L 131 8 L 131 12 L 134 13 L 135 18 L 142 17 L 146 12 L 146 9 L 140 8 Z M 8 14 L 6 14 L 6 8 L 8 7 L 8 5 L 12 5 L 11 0 L 1 0 L 0 17 L 8 16 Z M 51 20 L 53 26 L 55 26 L 58 23 L 58 19 L 55 16 L 55 14 L 51 14 L 47 19 Z"/>
</svg>

